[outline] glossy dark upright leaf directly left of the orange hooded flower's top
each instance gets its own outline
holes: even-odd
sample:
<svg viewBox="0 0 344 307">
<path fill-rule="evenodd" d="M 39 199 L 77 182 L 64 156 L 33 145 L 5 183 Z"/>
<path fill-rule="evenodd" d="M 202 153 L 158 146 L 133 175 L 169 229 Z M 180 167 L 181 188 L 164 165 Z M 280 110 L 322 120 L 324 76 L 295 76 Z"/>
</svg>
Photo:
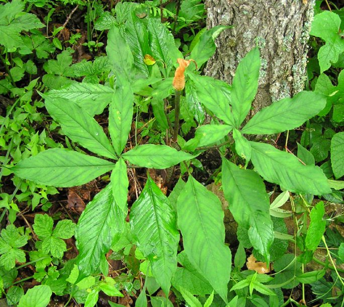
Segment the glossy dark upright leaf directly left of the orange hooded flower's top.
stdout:
<svg viewBox="0 0 344 307">
<path fill-rule="evenodd" d="M 159 59 L 162 61 L 167 68 L 168 75 L 168 72 L 173 66 L 172 60 L 168 55 L 168 45 L 175 44 L 175 39 L 158 19 L 150 18 L 147 27 L 152 55 L 155 60 Z"/>
</svg>

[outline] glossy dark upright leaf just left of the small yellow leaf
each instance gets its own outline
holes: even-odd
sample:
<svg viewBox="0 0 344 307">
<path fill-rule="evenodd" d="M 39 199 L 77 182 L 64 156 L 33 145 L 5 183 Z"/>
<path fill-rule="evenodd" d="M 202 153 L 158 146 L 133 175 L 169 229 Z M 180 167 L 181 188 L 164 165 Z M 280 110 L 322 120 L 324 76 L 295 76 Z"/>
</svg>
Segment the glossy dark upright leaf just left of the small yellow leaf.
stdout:
<svg viewBox="0 0 344 307">
<path fill-rule="evenodd" d="M 125 24 L 125 40 L 134 56 L 134 65 L 137 70 L 148 77 L 148 67 L 143 61 L 144 56 L 151 53 L 148 45 L 148 31 L 136 16 L 132 22 Z"/>
</svg>

